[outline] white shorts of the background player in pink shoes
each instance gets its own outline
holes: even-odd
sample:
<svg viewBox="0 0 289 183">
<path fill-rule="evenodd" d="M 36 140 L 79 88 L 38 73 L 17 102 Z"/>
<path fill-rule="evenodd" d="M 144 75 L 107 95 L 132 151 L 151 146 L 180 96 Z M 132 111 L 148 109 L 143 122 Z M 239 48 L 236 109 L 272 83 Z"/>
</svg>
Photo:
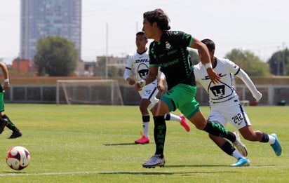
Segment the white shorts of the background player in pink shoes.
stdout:
<svg viewBox="0 0 289 183">
<path fill-rule="evenodd" d="M 149 104 L 149 107 L 147 107 L 147 109 L 151 110 L 152 107 L 154 107 L 154 104 L 159 102 L 159 99 L 156 98 L 156 95 L 159 93 L 158 81 L 155 80 L 154 82 L 149 83 L 148 85 L 144 86 L 138 93 L 140 93 L 140 97 L 142 97 L 142 99 L 148 99 L 151 101 L 151 104 Z"/>
</svg>

